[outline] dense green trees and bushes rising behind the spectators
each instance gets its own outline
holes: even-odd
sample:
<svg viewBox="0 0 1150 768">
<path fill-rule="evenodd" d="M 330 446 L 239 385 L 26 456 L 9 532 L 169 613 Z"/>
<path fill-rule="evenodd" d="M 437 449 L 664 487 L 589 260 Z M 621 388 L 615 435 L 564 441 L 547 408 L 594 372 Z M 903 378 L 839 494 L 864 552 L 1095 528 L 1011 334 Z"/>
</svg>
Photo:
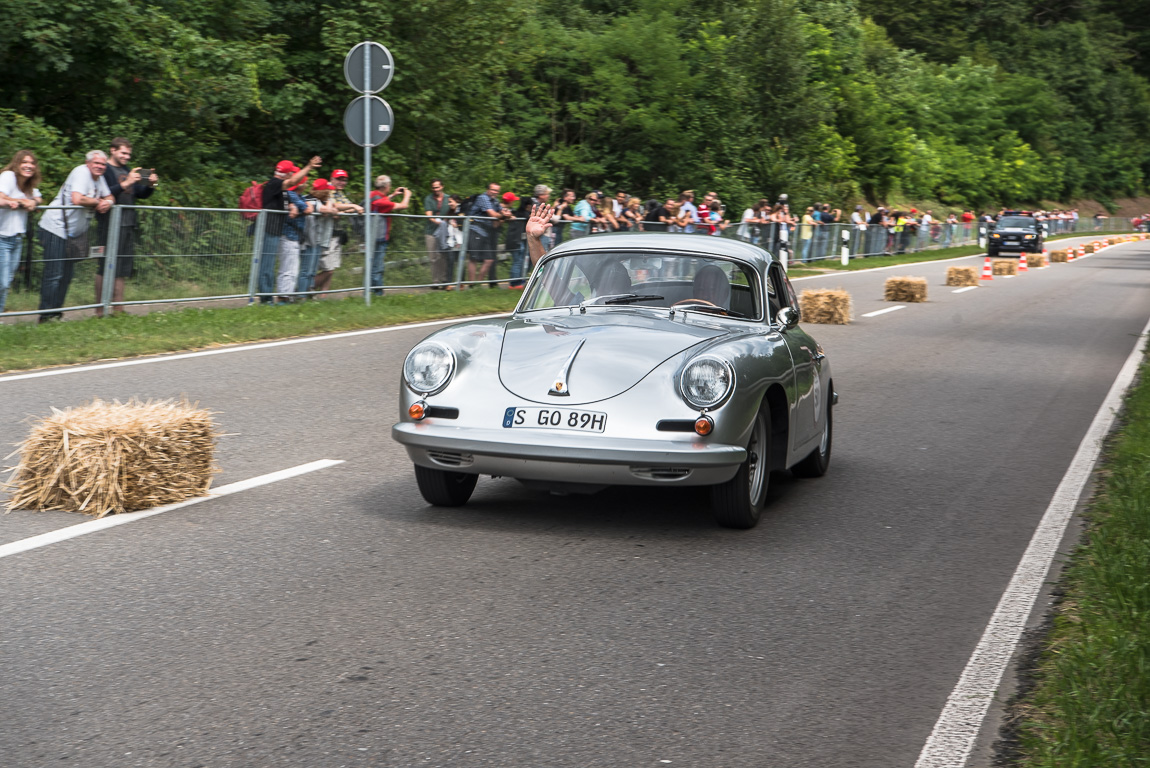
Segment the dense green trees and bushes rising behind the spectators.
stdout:
<svg viewBox="0 0 1150 768">
<path fill-rule="evenodd" d="M 343 57 L 375 39 L 397 60 L 375 168 L 416 189 L 1105 199 L 1150 168 L 1144 5 L 0 0 L 0 151 L 59 183 L 123 133 L 184 205 L 235 205 L 285 156 L 358 179 Z"/>
</svg>

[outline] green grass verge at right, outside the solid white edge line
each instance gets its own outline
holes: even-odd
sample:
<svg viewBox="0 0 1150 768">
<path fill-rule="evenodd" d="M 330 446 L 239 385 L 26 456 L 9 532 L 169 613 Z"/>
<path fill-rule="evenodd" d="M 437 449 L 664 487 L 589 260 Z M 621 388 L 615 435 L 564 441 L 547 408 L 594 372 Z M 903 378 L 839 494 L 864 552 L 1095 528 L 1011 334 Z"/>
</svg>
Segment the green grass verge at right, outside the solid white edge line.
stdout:
<svg viewBox="0 0 1150 768">
<path fill-rule="evenodd" d="M 1150 364 L 1141 373 L 1017 708 L 1025 768 L 1150 765 Z"/>
</svg>

